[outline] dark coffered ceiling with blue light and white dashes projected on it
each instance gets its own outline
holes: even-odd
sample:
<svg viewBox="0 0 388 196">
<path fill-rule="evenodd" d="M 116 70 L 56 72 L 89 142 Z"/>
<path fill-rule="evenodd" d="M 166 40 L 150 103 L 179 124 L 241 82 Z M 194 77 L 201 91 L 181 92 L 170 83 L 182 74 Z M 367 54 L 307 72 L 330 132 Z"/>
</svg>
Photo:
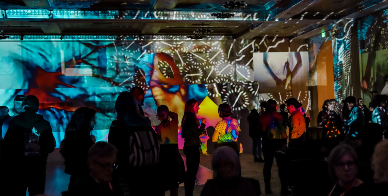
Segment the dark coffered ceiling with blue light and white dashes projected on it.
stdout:
<svg viewBox="0 0 388 196">
<path fill-rule="evenodd" d="M 334 20 L 357 19 L 388 7 L 385 0 L 245 0 L 248 3 L 245 9 L 230 11 L 222 8 L 225 1 L 0 0 L 1 9 L 7 13 L 12 9 L 117 10 L 117 13 L 134 10 L 133 14 L 136 13 L 135 17 L 124 18 L 3 16 L 0 29 L 4 29 L 5 35 L 192 35 L 203 23 L 205 28 L 213 30 L 209 35 L 231 35 L 237 39 L 263 36 L 305 39 L 320 34 L 322 27 Z M 137 10 L 144 11 L 145 16 L 158 12 L 182 16 L 204 14 L 205 17 L 142 18 L 137 16 L 143 12 Z M 217 20 L 206 17 L 216 12 L 234 12 L 236 17 Z"/>
</svg>

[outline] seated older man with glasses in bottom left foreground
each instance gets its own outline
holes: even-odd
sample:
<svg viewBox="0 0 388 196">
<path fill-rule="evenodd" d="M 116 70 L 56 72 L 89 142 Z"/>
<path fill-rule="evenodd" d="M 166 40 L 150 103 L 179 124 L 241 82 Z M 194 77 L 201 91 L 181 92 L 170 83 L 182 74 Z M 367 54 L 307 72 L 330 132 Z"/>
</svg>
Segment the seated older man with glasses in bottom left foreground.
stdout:
<svg viewBox="0 0 388 196">
<path fill-rule="evenodd" d="M 72 196 L 123 196 L 120 184 L 112 177 L 117 149 L 109 142 L 96 142 L 87 154 L 88 173 L 71 186 Z"/>
</svg>

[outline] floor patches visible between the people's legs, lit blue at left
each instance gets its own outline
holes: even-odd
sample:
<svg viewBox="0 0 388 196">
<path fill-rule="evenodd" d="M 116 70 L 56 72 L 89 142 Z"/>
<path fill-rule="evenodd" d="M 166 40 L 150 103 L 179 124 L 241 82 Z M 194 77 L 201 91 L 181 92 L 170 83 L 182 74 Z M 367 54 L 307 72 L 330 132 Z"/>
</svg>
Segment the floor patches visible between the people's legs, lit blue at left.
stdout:
<svg viewBox="0 0 388 196">
<path fill-rule="evenodd" d="M 184 158 L 184 157 L 183 157 Z M 253 162 L 253 157 L 251 154 L 241 153 L 241 173 L 243 177 L 250 177 L 260 182 L 260 188 L 262 190 L 262 195 L 264 193 L 264 181 L 263 181 L 263 166 L 264 163 Z M 185 161 L 185 158 L 184 158 Z M 194 196 L 199 196 L 205 184 L 206 180 L 211 179 L 211 155 L 201 154 L 200 167 L 197 174 L 197 179 L 199 185 L 196 185 L 194 189 Z M 64 165 L 62 162 L 49 162 L 47 164 L 47 177 L 46 177 L 46 190 L 45 193 L 49 196 L 61 196 L 62 191 L 66 191 L 69 184 L 69 175 L 64 173 Z M 184 184 L 181 184 L 179 187 L 179 195 L 184 196 Z M 272 167 L 272 194 L 278 196 L 280 195 L 280 180 L 277 175 L 277 166 L 276 161 Z M 28 195 L 28 193 L 27 193 Z M 166 192 L 166 195 L 170 193 Z"/>
</svg>

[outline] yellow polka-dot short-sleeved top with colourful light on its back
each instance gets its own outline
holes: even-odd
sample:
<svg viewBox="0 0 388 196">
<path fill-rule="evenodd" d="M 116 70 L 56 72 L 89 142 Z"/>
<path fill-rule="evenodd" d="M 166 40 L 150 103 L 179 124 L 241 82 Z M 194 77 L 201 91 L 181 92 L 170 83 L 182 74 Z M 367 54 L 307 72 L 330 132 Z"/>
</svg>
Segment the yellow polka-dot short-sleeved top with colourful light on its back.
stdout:
<svg viewBox="0 0 388 196">
<path fill-rule="evenodd" d="M 239 122 L 234 118 L 230 118 L 229 121 L 222 119 L 217 123 L 214 129 L 212 140 L 213 142 L 217 140 L 218 143 L 236 142 L 239 131 L 241 130 Z"/>
</svg>

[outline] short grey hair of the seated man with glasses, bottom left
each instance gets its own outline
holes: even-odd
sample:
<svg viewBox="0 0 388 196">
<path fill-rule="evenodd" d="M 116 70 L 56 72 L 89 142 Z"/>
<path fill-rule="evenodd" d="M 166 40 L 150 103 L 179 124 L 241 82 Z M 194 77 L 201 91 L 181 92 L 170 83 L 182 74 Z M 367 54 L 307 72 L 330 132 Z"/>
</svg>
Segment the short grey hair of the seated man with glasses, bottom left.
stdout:
<svg viewBox="0 0 388 196">
<path fill-rule="evenodd" d="M 100 157 L 107 157 L 117 154 L 117 148 L 113 144 L 99 141 L 89 148 L 88 160 L 95 160 Z"/>
</svg>

